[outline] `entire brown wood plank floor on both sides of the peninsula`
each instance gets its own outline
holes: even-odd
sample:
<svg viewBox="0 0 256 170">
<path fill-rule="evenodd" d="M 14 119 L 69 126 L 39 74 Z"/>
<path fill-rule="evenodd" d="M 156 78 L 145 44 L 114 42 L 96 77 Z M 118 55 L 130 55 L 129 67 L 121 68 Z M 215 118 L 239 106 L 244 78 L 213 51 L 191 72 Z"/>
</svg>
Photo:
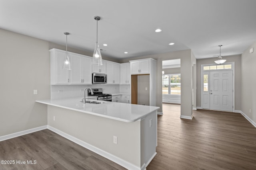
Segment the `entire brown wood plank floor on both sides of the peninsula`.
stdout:
<svg viewBox="0 0 256 170">
<path fill-rule="evenodd" d="M 157 155 L 147 170 L 256 169 L 256 128 L 241 114 L 198 110 L 186 120 L 180 119 L 180 105 L 163 104 L 163 111 Z M 48 129 L 0 142 L 0 160 L 15 160 L 0 170 L 125 169 Z"/>
</svg>

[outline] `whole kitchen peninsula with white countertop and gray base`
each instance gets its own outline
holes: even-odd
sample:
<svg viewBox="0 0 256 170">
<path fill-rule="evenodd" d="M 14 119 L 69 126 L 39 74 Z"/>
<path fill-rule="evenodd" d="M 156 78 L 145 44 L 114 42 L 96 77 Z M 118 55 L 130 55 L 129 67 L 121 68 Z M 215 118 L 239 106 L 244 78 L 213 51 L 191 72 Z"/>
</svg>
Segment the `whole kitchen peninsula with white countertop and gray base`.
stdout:
<svg viewBox="0 0 256 170">
<path fill-rule="evenodd" d="M 156 155 L 157 109 L 81 97 L 37 100 L 48 105 L 48 128 L 127 169 L 144 170 Z"/>
</svg>

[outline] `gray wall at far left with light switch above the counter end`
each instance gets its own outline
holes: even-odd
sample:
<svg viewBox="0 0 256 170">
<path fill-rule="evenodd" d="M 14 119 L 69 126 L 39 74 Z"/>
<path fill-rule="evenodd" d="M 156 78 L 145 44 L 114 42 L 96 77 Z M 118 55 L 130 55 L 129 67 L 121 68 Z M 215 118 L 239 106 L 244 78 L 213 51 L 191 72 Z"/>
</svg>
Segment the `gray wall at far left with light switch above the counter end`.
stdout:
<svg viewBox="0 0 256 170">
<path fill-rule="evenodd" d="M 35 100 L 50 98 L 48 42 L 3 29 L 0 37 L 0 136 L 47 125 L 47 106 Z"/>
</svg>

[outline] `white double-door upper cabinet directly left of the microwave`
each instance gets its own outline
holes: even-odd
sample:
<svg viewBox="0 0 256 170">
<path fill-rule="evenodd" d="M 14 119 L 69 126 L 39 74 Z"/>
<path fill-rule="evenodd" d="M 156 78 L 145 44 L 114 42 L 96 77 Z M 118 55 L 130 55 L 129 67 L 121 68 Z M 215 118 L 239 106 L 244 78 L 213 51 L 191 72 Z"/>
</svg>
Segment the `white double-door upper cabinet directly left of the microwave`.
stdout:
<svg viewBox="0 0 256 170">
<path fill-rule="evenodd" d="M 70 55 L 70 84 L 92 84 L 92 57 Z"/>
</svg>

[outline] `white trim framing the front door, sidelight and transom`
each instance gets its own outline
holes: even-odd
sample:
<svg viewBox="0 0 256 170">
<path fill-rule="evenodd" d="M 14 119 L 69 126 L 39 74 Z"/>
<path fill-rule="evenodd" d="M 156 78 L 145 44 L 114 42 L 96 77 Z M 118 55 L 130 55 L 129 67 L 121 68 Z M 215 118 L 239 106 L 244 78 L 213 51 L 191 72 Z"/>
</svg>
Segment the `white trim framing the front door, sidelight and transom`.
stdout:
<svg viewBox="0 0 256 170">
<path fill-rule="evenodd" d="M 227 62 L 224 63 L 225 64 L 231 64 L 232 68 L 231 69 L 223 69 L 223 70 L 233 70 L 233 112 L 235 111 L 235 62 Z M 216 70 L 204 70 L 204 66 L 213 66 L 216 65 L 214 63 L 212 64 L 201 64 L 201 107 L 203 106 L 203 90 L 204 90 L 204 81 L 203 81 L 203 77 L 204 77 L 204 72 L 210 72 L 211 71 L 216 71 Z M 221 71 L 221 69 L 219 69 L 218 71 Z"/>
</svg>

